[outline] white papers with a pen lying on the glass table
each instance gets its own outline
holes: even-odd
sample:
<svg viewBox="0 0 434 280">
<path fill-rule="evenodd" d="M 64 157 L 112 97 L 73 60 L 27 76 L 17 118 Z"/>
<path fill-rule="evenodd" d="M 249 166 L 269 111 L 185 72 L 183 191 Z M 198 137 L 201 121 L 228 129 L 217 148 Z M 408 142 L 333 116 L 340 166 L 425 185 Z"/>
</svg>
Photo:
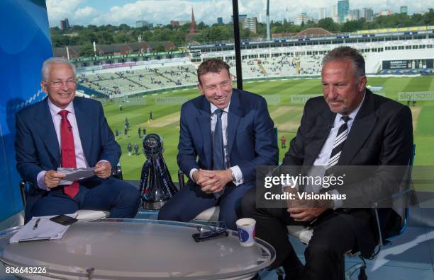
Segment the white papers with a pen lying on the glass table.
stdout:
<svg viewBox="0 0 434 280">
<path fill-rule="evenodd" d="M 77 214 L 68 214 L 73 218 Z M 55 216 L 33 217 L 19 231 L 12 235 L 9 243 L 18 243 L 31 240 L 55 240 L 63 237 L 69 226 L 50 221 Z"/>
</svg>

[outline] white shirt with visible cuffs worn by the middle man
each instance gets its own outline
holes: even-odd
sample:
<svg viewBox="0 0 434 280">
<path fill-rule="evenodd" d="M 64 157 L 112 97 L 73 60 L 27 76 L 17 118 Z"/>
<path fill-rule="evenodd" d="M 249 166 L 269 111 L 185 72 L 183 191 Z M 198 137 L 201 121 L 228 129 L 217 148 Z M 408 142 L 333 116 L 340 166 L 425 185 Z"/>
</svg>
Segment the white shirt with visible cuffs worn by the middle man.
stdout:
<svg viewBox="0 0 434 280">
<path fill-rule="evenodd" d="M 213 105 L 213 103 L 210 103 L 211 105 L 211 135 L 214 135 L 214 130 L 216 130 L 216 124 L 217 124 L 217 114 L 216 110 L 218 107 L 216 105 Z M 223 109 L 223 114 L 221 115 L 221 129 L 223 133 L 223 150 L 225 152 L 225 163 L 226 166 L 230 166 L 230 160 L 228 155 L 228 112 L 229 112 L 229 106 L 230 102 L 228 104 L 228 107 Z M 193 180 L 193 173 L 196 171 L 196 168 L 193 168 L 190 170 L 190 178 Z M 233 183 L 238 186 L 240 184 L 243 184 L 244 178 L 243 173 L 241 172 L 241 169 L 238 165 L 231 166 L 230 170 L 232 170 L 233 175 Z M 194 181 L 194 180 L 193 180 Z"/>
</svg>

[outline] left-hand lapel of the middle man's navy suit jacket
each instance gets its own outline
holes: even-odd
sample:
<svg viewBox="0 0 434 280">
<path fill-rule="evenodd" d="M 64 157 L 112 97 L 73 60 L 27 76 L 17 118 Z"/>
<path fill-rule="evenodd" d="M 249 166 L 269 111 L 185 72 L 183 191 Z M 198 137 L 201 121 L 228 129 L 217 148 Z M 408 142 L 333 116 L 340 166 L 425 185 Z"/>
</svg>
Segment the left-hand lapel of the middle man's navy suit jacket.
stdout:
<svg viewBox="0 0 434 280">
<path fill-rule="evenodd" d="M 201 104 L 198 109 L 199 114 L 196 115 L 196 122 L 201 131 L 206 168 L 211 169 L 211 157 L 213 154 L 211 140 L 211 105 L 204 96 L 202 96 Z"/>
</svg>

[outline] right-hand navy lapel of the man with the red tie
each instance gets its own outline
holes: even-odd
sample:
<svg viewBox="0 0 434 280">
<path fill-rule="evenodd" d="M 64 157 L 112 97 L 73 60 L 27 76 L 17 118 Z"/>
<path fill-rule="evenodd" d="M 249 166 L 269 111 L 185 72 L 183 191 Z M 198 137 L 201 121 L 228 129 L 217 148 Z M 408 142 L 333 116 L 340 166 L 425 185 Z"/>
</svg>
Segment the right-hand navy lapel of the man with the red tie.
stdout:
<svg viewBox="0 0 434 280">
<path fill-rule="evenodd" d="M 72 104 L 74 105 L 75 120 L 77 121 L 77 127 L 79 129 L 80 141 L 82 142 L 84 156 L 89 162 L 92 148 L 92 129 L 94 129 L 94 127 L 89 125 L 90 116 L 87 116 L 84 108 L 80 106 L 80 100 L 74 98 Z"/>
</svg>

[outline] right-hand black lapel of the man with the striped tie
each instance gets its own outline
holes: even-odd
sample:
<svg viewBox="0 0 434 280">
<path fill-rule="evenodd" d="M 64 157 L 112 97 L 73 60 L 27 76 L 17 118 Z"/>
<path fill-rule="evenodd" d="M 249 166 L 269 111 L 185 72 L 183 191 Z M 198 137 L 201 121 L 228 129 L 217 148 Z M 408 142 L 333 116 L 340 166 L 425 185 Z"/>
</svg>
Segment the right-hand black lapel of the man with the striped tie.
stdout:
<svg viewBox="0 0 434 280">
<path fill-rule="evenodd" d="M 352 123 L 350 134 L 348 134 L 345 146 L 340 154 L 338 165 L 350 165 L 352 158 L 359 152 L 377 122 L 372 93 L 367 89 L 365 94 L 365 101 Z"/>
</svg>

